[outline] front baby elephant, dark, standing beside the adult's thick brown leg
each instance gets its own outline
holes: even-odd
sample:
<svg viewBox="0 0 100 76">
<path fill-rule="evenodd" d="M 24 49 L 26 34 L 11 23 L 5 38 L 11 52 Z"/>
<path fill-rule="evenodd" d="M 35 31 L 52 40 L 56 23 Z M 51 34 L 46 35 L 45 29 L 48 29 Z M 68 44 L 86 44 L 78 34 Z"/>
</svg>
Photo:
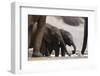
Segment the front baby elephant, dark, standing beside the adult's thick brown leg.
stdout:
<svg viewBox="0 0 100 76">
<path fill-rule="evenodd" d="M 46 30 L 42 40 L 41 53 L 45 56 L 50 56 L 51 52 L 55 50 L 55 56 L 58 57 L 59 48 L 61 47 L 61 56 L 65 56 L 65 53 L 70 56 L 65 45 L 66 44 L 60 30 L 50 24 L 46 24 Z"/>
</svg>

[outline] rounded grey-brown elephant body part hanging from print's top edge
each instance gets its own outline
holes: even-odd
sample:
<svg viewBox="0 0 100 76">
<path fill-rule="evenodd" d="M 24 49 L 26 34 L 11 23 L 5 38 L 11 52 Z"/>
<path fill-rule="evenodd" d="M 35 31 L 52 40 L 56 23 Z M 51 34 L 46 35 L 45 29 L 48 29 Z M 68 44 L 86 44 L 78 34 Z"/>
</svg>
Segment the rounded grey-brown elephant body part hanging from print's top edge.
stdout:
<svg viewBox="0 0 100 76">
<path fill-rule="evenodd" d="M 62 17 L 62 20 L 64 23 L 72 26 L 79 26 L 80 24 L 83 24 L 83 20 L 81 17 Z"/>
</svg>

